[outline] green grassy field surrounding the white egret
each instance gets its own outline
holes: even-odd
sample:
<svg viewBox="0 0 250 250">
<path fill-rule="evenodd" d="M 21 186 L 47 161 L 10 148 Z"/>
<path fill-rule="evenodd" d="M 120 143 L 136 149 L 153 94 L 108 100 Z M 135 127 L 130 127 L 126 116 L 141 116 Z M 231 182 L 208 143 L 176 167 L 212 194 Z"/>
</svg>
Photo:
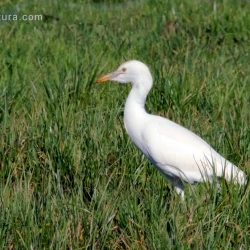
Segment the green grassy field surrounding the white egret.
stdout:
<svg viewBox="0 0 250 250">
<path fill-rule="evenodd" d="M 96 84 L 137 59 L 149 113 L 248 174 L 250 3 L 1 1 L 1 249 L 249 249 L 250 186 L 186 185 L 185 201 L 123 126 L 131 86 Z"/>
</svg>

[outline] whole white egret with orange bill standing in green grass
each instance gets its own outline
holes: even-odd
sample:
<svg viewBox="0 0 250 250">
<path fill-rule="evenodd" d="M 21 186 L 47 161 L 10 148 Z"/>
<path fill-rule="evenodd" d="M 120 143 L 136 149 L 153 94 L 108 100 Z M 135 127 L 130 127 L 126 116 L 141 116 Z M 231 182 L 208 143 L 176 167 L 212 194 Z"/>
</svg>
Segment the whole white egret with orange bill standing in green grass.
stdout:
<svg viewBox="0 0 250 250">
<path fill-rule="evenodd" d="M 97 82 L 108 80 L 132 83 L 124 110 L 126 131 L 182 197 L 183 181 L 194 184 L 211 181 L 216 176 L 240 185 L 246 183 L 245 173 L 199 136 L 166 118 L 146 112 L 146 97 L 153 86 L 153 79 L 145 64 L 127 61 L 116 71 L 98 78 Z"/>
</svg>

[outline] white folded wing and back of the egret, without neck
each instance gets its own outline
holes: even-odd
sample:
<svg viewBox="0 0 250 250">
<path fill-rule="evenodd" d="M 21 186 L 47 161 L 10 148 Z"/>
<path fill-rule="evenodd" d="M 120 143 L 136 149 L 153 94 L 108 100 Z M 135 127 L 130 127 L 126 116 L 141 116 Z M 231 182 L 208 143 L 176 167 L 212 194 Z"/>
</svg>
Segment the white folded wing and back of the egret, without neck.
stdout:
<svg viewBox="0 0 250 250">
<path fill-rule="evenodd" d="M 141 131 L 140 149 L 166 175 L 194 183 L 214 175 L 234 178 L 240 171 L 199 136 L 168 119 L 148 115 Z"/>
</svg>

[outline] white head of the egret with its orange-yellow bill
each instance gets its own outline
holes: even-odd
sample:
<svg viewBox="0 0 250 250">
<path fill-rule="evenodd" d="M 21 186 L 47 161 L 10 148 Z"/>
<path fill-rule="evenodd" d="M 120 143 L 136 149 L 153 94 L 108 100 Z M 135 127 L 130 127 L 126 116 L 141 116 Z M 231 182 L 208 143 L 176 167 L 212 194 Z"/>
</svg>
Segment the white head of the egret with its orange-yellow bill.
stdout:
<svg viewBox="0 0 250 250">
<path fill-rule="evenodd" d="M 117 70 L 107 75 L 101 76 L 96 82 L 116 81 L 119 83 L 131 82 L 136 85 L 140 82 L 152 82 L 149 68 L 142 62 L 131 60 L 123 63 Z"/>
</svg>

